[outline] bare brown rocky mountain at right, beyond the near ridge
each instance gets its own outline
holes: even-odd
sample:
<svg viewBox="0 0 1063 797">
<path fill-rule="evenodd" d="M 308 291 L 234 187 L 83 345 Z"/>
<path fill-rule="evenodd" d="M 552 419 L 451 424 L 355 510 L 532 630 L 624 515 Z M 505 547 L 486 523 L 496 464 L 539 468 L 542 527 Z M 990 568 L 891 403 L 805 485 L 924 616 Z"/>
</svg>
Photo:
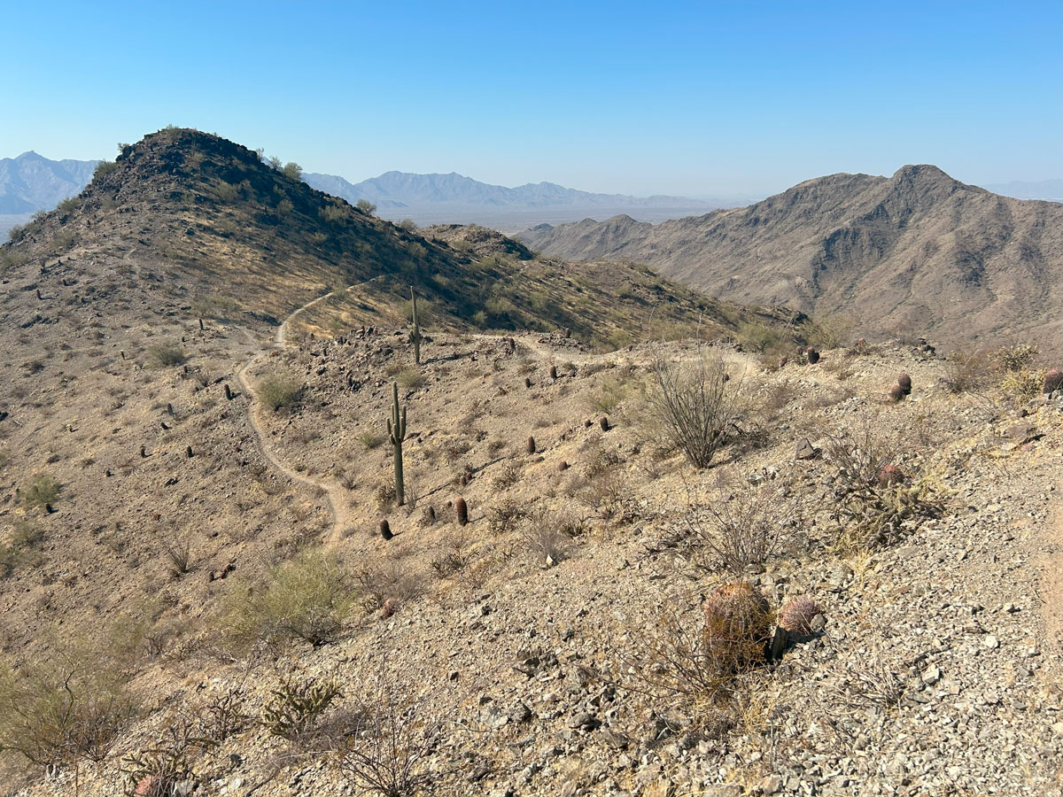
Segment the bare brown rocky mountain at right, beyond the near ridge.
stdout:
<svg viewBox="0 0 1063 797">
<path fill-rule="evenodd" d="M 743 208 L 661 224 L 539 226 L 532 249 L 646 262 L 733 301 L 847 313 L 949 342 L 1063 329 L 1063 205 L 959 183 L 933 166 L 833 174 Z"/>
</svg>

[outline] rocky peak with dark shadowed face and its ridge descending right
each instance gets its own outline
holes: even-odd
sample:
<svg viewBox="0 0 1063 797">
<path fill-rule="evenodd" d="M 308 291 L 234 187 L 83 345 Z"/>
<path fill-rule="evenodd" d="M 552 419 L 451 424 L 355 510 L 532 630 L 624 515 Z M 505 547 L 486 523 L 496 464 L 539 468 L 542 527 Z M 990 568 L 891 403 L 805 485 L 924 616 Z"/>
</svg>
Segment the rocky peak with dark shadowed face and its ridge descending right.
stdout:
<svg viewBox="0 0 1063 797">
<path fill-rule="evenodd" d="M 410 286 L 437 328 L 560 327 L 598 345 L 644 334 L 647 318 L 690 329 L 702 318 L 723 334 L 748 316 L 645 269 L 533 261 L 483 227 L 418 234 L 311 188 L 293 166 L 275 169 L 246 147 L 182 129 L 126 147 L 78 198 L 0 249 L 5 276 L 71 260 L 126 277 L 108 286 L 149 291 L 170 311 L 231 320 L 277 322 L 332 290 L 351 303 L 351 325 L 403 323 Z M 70 277 L 84 284 L 87 274 Z M 653 311 L 661 298 L 667 306 Z"/>
</svg>

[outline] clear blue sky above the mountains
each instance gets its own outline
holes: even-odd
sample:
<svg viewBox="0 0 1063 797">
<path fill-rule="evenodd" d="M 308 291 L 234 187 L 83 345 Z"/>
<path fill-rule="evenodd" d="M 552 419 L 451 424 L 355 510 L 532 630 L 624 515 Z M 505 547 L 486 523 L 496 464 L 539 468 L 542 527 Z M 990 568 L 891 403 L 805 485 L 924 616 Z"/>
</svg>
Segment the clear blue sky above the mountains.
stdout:
<svg viewBox="0 0 1063 797">
<path fill-rule="evenodd" d="M 352 182 L 1063 176 L 1059 0 L 6 5 L 0 156 L 111 157 L 174 123 Z"/>
</svg>

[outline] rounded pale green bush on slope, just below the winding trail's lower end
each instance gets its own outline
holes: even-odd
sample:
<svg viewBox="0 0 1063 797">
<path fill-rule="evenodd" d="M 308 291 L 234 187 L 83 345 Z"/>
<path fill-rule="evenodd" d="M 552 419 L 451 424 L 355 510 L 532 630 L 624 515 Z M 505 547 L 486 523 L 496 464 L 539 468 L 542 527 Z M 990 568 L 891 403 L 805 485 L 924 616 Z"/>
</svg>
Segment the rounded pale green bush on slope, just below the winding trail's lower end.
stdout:
<svg viewBox="0 0 1063 797">
<path fill-rule="evenodd" d="M 231 590 L 221 627 L 239 647 L 291 640 L 322 645 L 338 638 L 350 604 L 348 578 L 335 557 L 304 552 L 274 567 L 264 583 Z"/>
</svg>

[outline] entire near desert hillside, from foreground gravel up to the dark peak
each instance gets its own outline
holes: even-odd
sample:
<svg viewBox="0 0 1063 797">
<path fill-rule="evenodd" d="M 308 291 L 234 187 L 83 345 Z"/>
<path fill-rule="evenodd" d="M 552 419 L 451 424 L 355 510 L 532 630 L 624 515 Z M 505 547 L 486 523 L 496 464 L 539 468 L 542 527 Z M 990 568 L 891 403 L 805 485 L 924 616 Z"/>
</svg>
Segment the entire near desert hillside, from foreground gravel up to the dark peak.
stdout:
<svg viewBox="0 0 1063 797">
<path fill-rule="evenodd" d="M 0 794 L 1059 790 L 1061 352 L 298 177 L 161 131 L 0 249 Z"/>
</svg>

